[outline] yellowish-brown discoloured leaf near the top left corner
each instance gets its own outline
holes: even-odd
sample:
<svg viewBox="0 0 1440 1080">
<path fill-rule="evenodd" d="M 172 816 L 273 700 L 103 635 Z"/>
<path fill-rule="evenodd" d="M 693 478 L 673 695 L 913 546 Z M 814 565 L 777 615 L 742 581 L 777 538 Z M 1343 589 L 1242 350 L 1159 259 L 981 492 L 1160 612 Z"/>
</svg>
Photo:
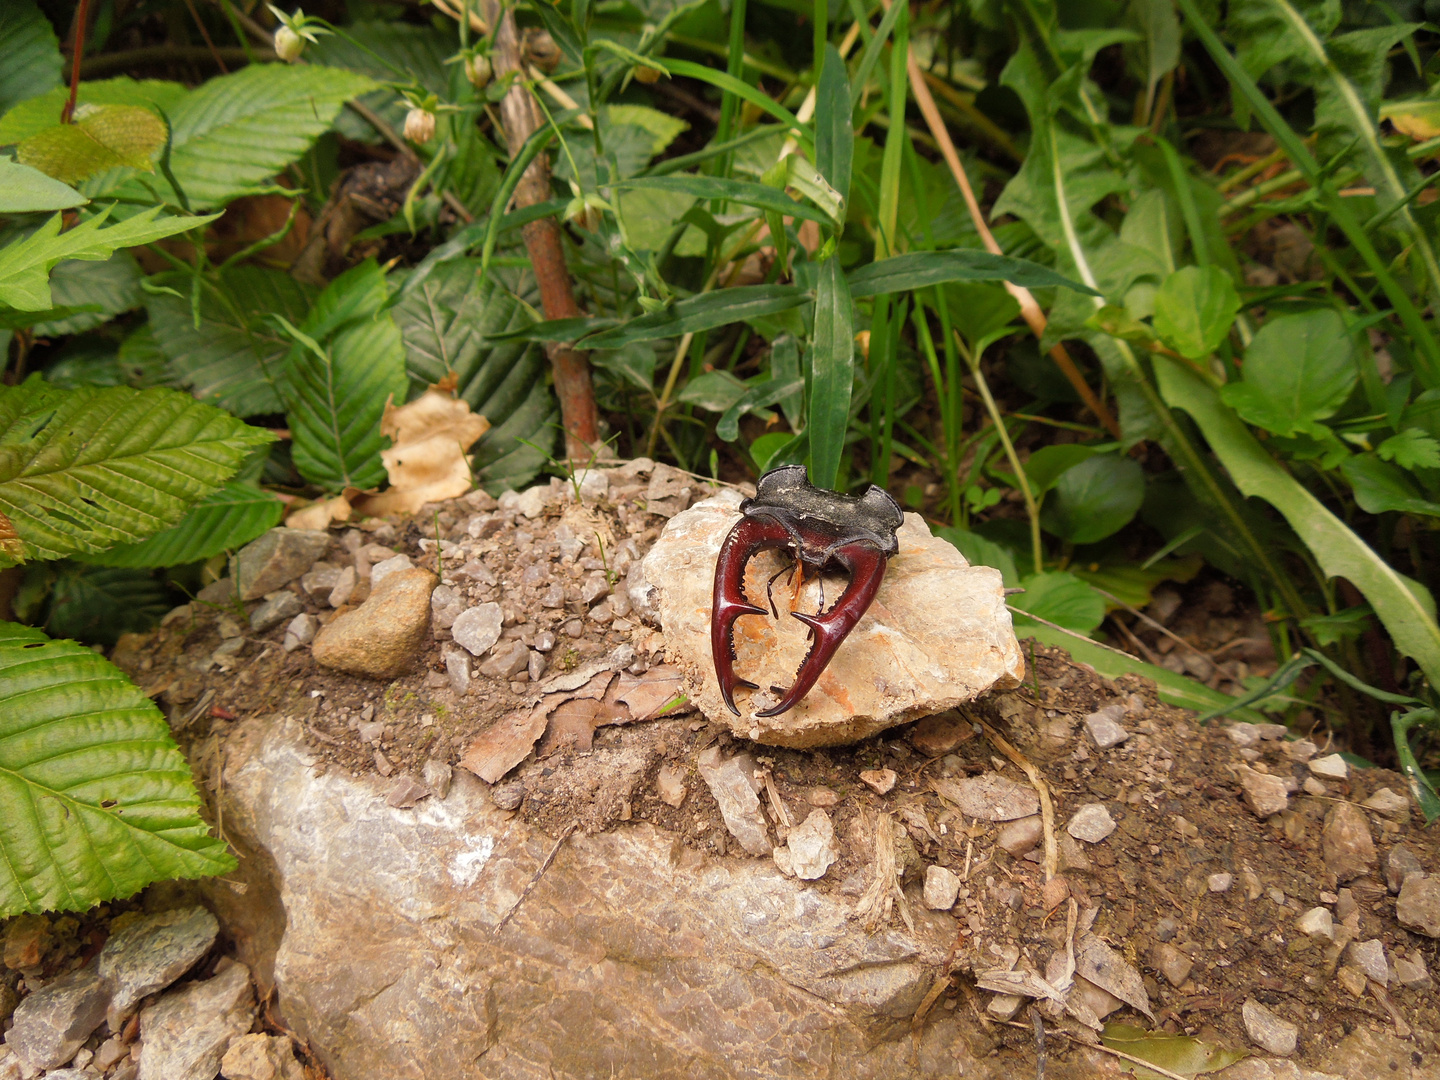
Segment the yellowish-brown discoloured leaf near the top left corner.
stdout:
<svg viewBox="0 0 1440 1080">
<path fill-rule="evenodd" d="M 84 105 L 75 122 L 56 124 L 16 147 L 16 160 L 60 183 L 78 184 L 109 168 L 153 173 L 166 124 L 140 105 Z"/>
</svg>

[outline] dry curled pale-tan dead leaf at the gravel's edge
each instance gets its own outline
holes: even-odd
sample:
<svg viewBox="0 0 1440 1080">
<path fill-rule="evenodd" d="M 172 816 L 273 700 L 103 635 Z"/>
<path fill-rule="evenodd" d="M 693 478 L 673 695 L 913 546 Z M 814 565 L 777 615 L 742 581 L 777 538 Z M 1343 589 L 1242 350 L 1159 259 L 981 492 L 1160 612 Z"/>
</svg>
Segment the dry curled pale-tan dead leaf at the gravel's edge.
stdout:
<svg viewBox="0 0 1440 1080">
<path fill-rule="evenodd" d="M 490 420 L 455 397 L 449 382 L 431 386 L 409 405 L 386 402 L 380 433 L 389 435 L 390 449 L 380 452 L 390 487 L 364 498 L 357 508 L 366 514 L 413 514 L 426 503 L 455 498 L 469 491 L 471 475 L 465 451 L 490 431 Z"/>
</svg>

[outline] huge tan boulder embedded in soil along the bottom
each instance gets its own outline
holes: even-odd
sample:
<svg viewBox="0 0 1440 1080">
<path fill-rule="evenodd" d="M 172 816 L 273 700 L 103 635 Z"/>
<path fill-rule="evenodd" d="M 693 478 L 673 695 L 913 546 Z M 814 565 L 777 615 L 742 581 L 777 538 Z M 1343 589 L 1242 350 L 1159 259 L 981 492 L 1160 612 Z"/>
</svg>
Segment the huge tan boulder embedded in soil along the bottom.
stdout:
<svg viewBox="0 0 1440 1080">
<path fill-rule="evenodd" d="M 1007 1076 L 968 1047 L 963 1009 L 935 1009 L 912 1050 L 955 940 L 919 897 L 913 933 L 865 933 L 854 897 L 648 824 L 572 834 L 534 880 L 554 840 L 461 770 L 444 801 L 396 809 L 377 778 L 317 775 L 272 716 L 238 726 L 225 762 L 246 900 L 282 904 L 278 1012 L 331 1076 Z"/>
</svg>

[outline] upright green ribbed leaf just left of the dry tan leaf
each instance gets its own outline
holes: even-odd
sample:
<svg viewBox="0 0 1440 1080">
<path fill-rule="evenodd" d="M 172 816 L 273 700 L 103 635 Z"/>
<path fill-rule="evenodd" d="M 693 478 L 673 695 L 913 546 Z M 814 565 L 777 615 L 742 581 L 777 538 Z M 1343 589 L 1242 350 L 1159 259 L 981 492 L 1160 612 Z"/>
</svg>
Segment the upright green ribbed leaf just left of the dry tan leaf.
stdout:
<svg viewBox="0 0 1440 1080">
<path fill-rule="evenodd" d="M 366 259 L 315 300 L 285 357 L 279 396 L 300 475 L 327 491 L 379 487 L 380 416 L 405 399 L 405 344 L 386 310 L 384 271 Z M 279 320 L 279 317 L 276 317 Z"/>
</svg>

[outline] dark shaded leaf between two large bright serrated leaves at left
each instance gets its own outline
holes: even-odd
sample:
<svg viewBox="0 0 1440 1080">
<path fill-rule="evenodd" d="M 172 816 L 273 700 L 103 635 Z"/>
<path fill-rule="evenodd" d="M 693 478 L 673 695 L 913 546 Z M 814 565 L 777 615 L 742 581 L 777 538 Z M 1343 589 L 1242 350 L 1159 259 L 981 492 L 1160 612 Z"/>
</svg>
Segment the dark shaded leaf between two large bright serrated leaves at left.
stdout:
<svg viewBox="0 0 1440 1080">
<path fill-rule="evenodd" d="M 143 634 L 174 606 L 170 590 L 148 570 L 59 564 L 45 615 L 52 638 L 112 647 L 121 634 Z"/>
</svg>

